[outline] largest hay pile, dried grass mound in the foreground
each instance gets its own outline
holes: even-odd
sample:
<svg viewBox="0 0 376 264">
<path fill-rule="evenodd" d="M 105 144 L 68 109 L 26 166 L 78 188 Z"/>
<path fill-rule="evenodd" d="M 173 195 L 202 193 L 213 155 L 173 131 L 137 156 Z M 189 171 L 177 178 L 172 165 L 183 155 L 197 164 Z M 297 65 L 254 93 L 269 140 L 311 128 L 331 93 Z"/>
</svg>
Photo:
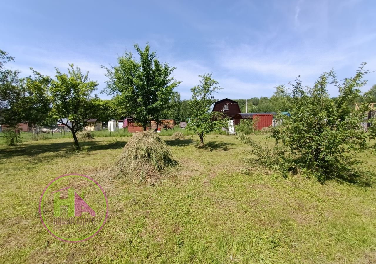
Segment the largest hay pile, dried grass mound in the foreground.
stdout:
<svg viewBox="0 0 376 264">
<path fill-rule="evenodd" d="M 136 132 L 115 163 L 115 172 L 140 183 L 155 181 L 177 165 L 166 143 L 152 131 Z"/>
</svg>

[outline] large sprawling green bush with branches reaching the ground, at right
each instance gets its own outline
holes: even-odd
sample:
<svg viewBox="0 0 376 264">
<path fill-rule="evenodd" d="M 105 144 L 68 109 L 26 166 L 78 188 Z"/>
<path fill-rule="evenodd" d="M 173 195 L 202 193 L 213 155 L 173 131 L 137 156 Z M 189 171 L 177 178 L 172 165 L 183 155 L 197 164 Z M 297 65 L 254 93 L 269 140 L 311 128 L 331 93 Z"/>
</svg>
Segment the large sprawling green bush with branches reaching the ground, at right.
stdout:
<svg viewBox="0 0 376 264">
<path fill-rule="evenodd" d="M 298 78 L 291 91 L 284 89 L 291 97 L 285 101 L 291 116 L 277 116 L 283 119 L 283 124 L 272 130 L 271 137 L 276 140 L 273 151 L 261 150 L 259 144 L 246 136 L 240 136 L 240 140 L 252 147 L 251 153 L 258 156 L 262 166 L 270 168 L 271 161 L 273 168 L 278 166 L 284 172 L 304 170 L 320 181 L 330 178 L 361 181 L 359 176 L 365 175 L 357 155 L 371 151 L 369 139 L 373 138 L 361 125 L 368 104 L 362 104 L 359 110 L 353 106 L 361 96 L 360 87 L 365 84 L 363 66 L 343 84 L 337 82 L 331 71 L 322 74 L 313 87 L 303 87 Z M 335 100 L 327 93 L 329 82 L 338 87 L 340 95 Z"/>
</svg>

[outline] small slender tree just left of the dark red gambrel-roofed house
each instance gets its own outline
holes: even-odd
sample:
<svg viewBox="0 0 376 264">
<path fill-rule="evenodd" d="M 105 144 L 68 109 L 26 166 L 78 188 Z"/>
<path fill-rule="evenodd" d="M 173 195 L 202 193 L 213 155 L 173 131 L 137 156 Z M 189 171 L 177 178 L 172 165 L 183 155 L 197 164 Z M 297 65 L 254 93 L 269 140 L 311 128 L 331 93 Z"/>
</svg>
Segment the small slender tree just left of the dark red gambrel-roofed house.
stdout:
<svg viewBox="0 0 376 264">
<path fill-rule="evenodd" d="M 212 74 L 208 73 L 199 75 L 202 78 L 200 84 L 191 88 L 191 119 L 186 128 L 197 133 L 200 137 L 200 146 L 204 145 L 206 134 L 227 126 L 227 119 L 223 114 L 212 112 L 210 108 L 214 101 L 214 93 L 222 89 L 217 86 L 218 81 L 212 79 L 211 76 Z"/>
</svg>

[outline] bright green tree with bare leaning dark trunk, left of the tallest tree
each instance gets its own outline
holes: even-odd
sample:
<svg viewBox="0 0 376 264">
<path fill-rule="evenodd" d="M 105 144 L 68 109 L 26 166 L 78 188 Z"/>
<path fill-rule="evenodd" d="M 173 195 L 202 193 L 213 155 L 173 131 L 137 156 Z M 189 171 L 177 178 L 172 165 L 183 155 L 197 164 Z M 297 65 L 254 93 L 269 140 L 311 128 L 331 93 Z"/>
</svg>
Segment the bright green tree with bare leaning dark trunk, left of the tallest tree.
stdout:
<svg viewBox="0 0 376 264">
<path fill-rule="evenodd" d="M 56 80 L 52 80 L 49 86 L 51 115 L 71 130 L 75 148 L 79 149 L 76 133 L 86 126 L 88 119 L 97 116 L 95 98 L 91 94 L 98 83 L 89 79 L 89 72 L 83 74 L 80 68 L 74 68 L 73 63 L 69 66 L 69 76 L 56 69 Z"/>
</svg>

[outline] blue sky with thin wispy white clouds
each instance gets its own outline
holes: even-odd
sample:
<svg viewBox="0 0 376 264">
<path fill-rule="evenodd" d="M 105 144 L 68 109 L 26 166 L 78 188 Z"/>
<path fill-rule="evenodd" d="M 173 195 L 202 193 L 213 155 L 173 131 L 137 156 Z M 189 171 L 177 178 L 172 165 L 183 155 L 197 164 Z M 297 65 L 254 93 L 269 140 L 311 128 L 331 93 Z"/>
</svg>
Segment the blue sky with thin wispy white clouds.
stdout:
<svg viewBox="0 0 376 264">
<path fill-rule="evenodd" d="M 105 87 L 100 65 L 149 42 L 161 62 L 177 69 L 183 99 L 213 72 L 217 98 L 268 96 L 297 75 L 311 86 L 335 68 L 352 77 L 361 62 L 376 70 L 374 0 L 265 1 L 7 1 L 2 3 L 0 49 L 8 67 L 54 74 L 73 62 Z M 376 84 L 376 72 L 365 75 Z M 331 95 L 337 89 L 329 87 Z M 104 94 L 102 98 L 109 98 Z"/>
</svg>

